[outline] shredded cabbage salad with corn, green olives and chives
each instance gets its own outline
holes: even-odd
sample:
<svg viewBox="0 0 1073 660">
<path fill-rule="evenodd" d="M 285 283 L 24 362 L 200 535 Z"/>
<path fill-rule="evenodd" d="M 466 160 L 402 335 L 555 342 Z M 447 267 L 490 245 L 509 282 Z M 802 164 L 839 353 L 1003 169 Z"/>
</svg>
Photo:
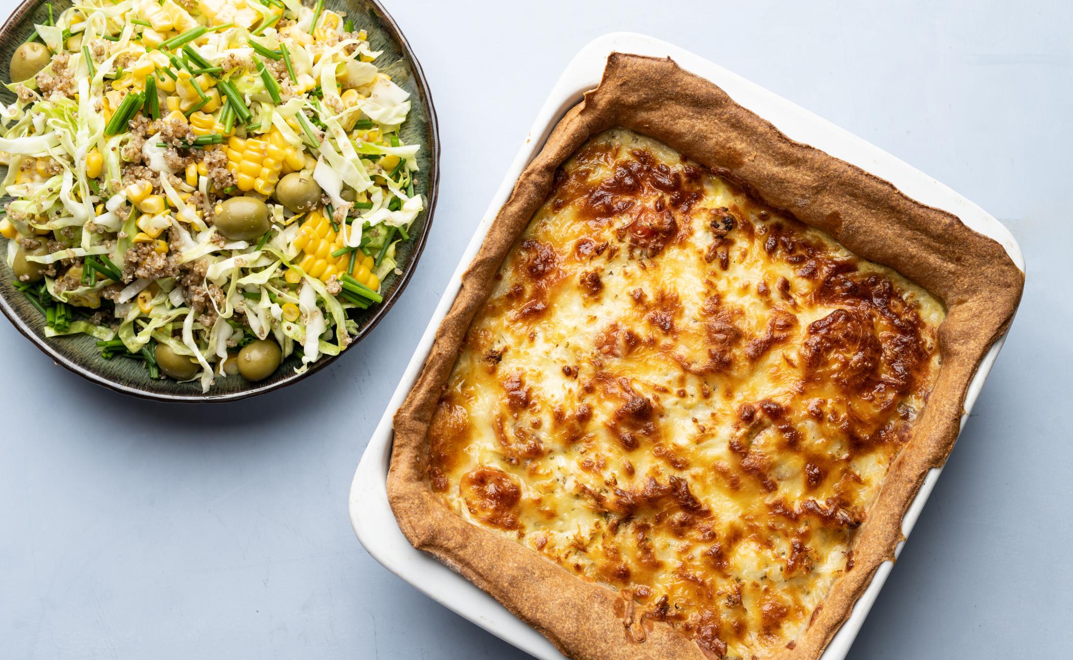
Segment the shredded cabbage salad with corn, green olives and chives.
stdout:
<svg viewBox="0 0 1073 660">
<path fill-rule="evenodd" d="M 365 30 L 323 0 L 85 0 L 35 28 L 0 234 L 44 334 L 202 391 L 347 348 L 424 208 Z"/>
</svg>

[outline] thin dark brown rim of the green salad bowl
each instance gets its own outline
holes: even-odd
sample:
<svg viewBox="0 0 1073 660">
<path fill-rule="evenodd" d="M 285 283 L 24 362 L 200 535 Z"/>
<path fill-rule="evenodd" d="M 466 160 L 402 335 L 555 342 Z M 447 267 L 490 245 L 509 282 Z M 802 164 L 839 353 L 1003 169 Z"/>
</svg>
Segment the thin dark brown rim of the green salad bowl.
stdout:
<svg viewBox="0 0 1073 660">
<path fill-rule="evenodd" d="M 17 8 L 15 8 L 15 10 L 11 13 L 11 16 L 9 16 L 8 19 L 4 21 L 3 26 L 0 26 L 0 43 L 6 42 L 8 40 L 14 38 L 15 25 L 20 22 L 28 13 L 32 12 L 34 9 L 36 9 L 39 4 L 45 1 L 46 0 L 23 0 L 23 2 Z M 380 2 L 380 0 L 362 0 L 362 1 L 368 2 L 377 11 L 377 13 L 383 17 L 382 22 L 384 24 L 384 27 L 392 33 L 391 35 L 399 44 L 403 56 L 410 62 L 411 69 L 413 70 L 414 78 L 417 81 L 417 94 L 422 98 L 422 101 L 428 108 L 429 132 L 431 135 L 431 140 L 430 140 L 431 144 L 428 146 L 428 148 L 432 152 L 431 153 L 432 166 L 431 166 L 431 171 L 429 172 L 431 185 L 429 186 L 428 193 L 426 195 L 428 197 L 428 204 L 425 208 L 425 227 L 424 230 L 421 232 L 421 236 L 416 237 L 417 240 L 416 243 L 414 244 L 413 257 L 410 259 L 410 262 L 407 265 L 407 267 L 402 270 L 402 274 L 399 276 L 398 280 L 398 285 L 391 292 L 391 295 L 384 299 L 383 303 L 381 303 L 377 308 L 377 311 L 372 314 L 372 317 L 369 318 L 369 321 L 365 325 L 365 327 L 361 329 L 361 332 L 357 334 L 357 336 L 354 338 L 354 341 L 351 343 L 350 346 L 348 346 L 348 348 L 353 348 L 354 345 L 364 340 L 369 334 L 369 332 L 371 332 L 372 329 L 377 327 L 380 320 L 384 316 L 386 316 L 387 313 L 391 311 L 392 306 L 395 305 L 395 302 L 399 299 L 399 297 L 402 295 L 402 291 L 406 289 L 407 284 L 410 283 L 410 278 L 413 275 L 413 271 L 416 270 L 417 261 L 421 260 L 422 253 L 425 250 L 425 244 L 428 241 L 428 234 L 429 230 L 431 229 L 432 219 L 436 211 L 436 202 L 439 197 L 439 189 L 440 189 L 440 129 L 436 116 L 436 106 L 432 104 L 432 93 L 428 86 L 428 79 L 425 77 L 425 72 L 421 66 L 421 62 L 417 60 L 417 56 L 413 51 L 413 47 L 410 46 L 410 42 L 407 41 L 407 38 L 402 33 L 401 28 L 399 28 L 398 22 L 387 12 L 387 10 L 384 9 L 384 5 Z M 55 350 L 45 341 L 44 338 L 39 336 L 36 333 L 34 333 L 30 325 L 24 321 L 18 316 L 15 310 L 11 306 L 8 297 L 3 295 L 0 295 L 0 311 L 3 312 L 4 316 L 8 317 L 8 320 L 11 321 L 11 324 L 15 327 L 16 330 L 19 331 L 19 333 L 23 336 L 30 340 L 30 343 L 32 343 L 42 352 L 50 357 L 57 364 L 64 368 L 69 372 L 77 374 L 94 385 L 99 385 L 109 390 L 119 392 L 120 394 L 127 394 L 129 396 L 136 396 L 138 399 L 146 399 L 151 401 L 177 402 L 177 403 L 224 403 L 231 401 L 239 401 L 242 399 L 248 399 L 250 396 L 264 394 L 273 390 L 278 390 L 280 388 L 290 385 L 294 385 L 295 382 L 298 382 L 299 380 L 303 380 L 311 376 L 312 374 L 321 371 L 328 364 L 334 363 L 336 360 L 350 352 L 349 350 L 342 350 L 339 352 L 339 355 L 322 356 L 320 360 L 313 362 L 312 364 L 309 364 L 308 369 L 300 374 L 291 374 L 290 376 L 281 380 L 278 380 L 276 382 L 253 387 L 237 392 L 214 394 L 211 389 L 209 389 L 208 392 L 191 392 L 191 393 L 177 393 L 177 394 L 167 392 L 152 392 L 147 389 L 131 387 L 123 385 L 121 382 L 117 382 L 97 373 L 95 371 L 87 369 L 74 362 L 73 360 L 68 359 L 58 350 Z"/>
</svg>

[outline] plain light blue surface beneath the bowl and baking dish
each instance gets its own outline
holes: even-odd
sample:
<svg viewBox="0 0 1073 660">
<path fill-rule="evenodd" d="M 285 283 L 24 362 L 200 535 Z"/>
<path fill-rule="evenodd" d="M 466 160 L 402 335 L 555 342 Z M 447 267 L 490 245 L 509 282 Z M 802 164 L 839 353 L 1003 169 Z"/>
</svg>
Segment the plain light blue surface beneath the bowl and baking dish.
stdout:
<svg viewBox="0 0 1073 660">
<path fill-rule="evenodd" d="M 874 4 L 389 1 L 439 111 L 441 199 L 408 290 L 348 357 L 253 401 L 161 405 L 0 322 L 0 657 L 524 657 L 372 560 L 347 493 L 536 109 L 613 30 L 707 57 L 1012 229 L 1024 303 L 851 658 L 1073 655 L 1073 11 Z"/>
</svg>

